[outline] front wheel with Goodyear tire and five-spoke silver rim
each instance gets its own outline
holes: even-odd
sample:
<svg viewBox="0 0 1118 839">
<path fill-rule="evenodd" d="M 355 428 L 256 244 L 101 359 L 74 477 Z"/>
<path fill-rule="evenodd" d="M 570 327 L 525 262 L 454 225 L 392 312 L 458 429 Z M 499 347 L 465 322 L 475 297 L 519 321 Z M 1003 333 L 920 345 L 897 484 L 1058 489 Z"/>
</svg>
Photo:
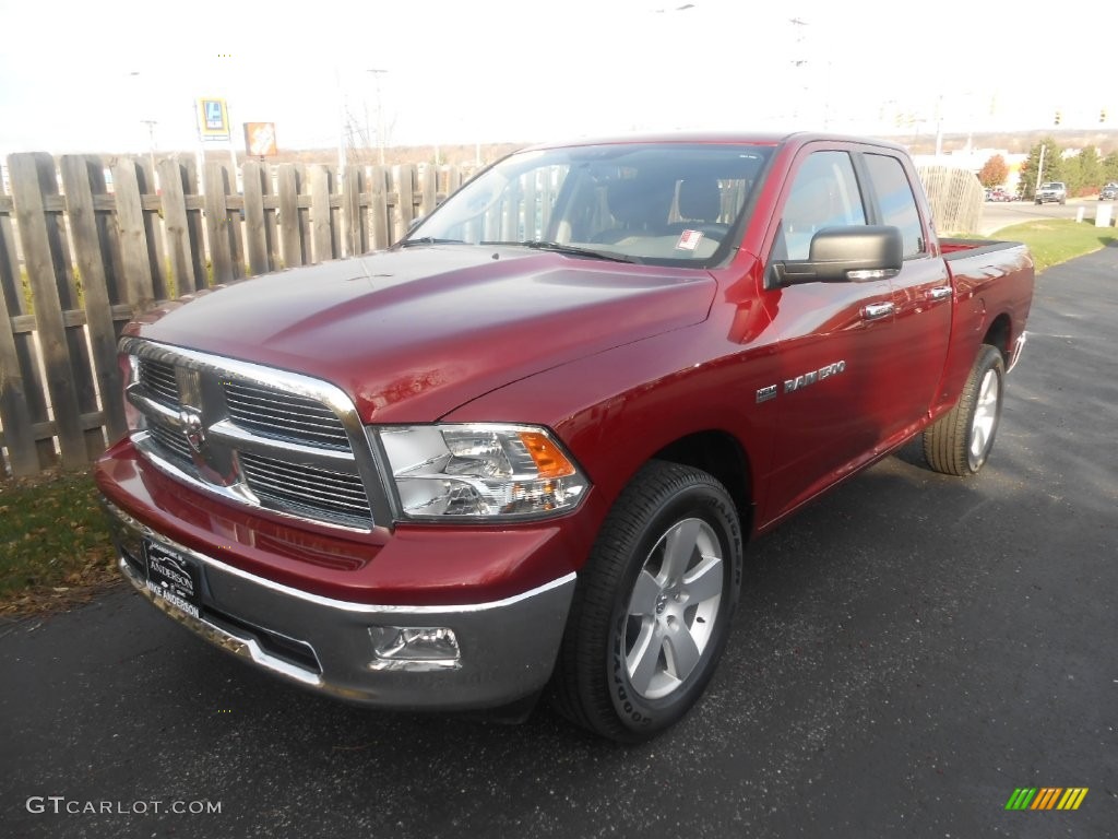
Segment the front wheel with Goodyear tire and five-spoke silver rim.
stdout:
<svg viewBox="0 0 1118 839">
<path fill-rule="evenodd" d="M 579 573 L 552 706 L 625 743 L 678 722 L 726 645 L 741 566 L 738 513 L 722 484 L 690 466 L 647 463 Z"/>
</svg>

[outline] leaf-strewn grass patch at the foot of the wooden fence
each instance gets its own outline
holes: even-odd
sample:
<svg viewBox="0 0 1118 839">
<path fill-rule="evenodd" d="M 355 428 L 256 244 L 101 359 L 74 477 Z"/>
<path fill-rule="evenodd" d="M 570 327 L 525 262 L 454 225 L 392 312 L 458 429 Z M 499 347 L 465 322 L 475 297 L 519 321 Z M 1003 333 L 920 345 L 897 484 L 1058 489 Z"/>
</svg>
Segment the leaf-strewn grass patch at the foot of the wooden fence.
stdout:
<svg viewBox="0 0 1118 839">
<path fill-rule="evenodd" d="M 117 579 L 88 472 L 0 481 L 0 613 L 80 603 Z"/>
</svg>

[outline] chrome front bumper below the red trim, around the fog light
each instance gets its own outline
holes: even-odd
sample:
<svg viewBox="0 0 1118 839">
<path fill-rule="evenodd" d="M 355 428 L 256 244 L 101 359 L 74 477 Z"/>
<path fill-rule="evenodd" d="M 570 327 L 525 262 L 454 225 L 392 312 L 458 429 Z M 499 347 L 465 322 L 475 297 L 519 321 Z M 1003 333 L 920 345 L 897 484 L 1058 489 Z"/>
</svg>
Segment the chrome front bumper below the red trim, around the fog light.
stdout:
<svg viewBox="0 0 1118 839">
<path fill-rule="evenodd" d="M 331 600 L 273 583 L 192 550 L 102 501 L 120 568 L 144 597 L 210 643 L 323 694 L 385 708 L 496 708 L 531 696 L 551 675 L 575 591 L 575 574 L 502 601 L 391 606 Z M 201 569 L 198 618 L 148 586 L 143 543 L 193 559 Z M 378 658 L 382 626 L 445 626 L 453 661 Z"/>
</svg>

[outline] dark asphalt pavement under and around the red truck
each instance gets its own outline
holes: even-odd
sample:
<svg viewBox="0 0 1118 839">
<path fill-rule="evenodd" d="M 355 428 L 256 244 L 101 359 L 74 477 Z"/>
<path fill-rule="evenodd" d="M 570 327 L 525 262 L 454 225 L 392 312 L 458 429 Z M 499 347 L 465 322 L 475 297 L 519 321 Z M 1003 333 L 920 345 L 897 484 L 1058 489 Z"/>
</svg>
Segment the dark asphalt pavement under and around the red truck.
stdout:
<svg viewBox="0 0 1118 839">
<path fill-rule="evenodd" d="M 983 474 L 909 446 L 751 544 L 652 743 L 340 705 L 122 588 L 0 629 L 0 836 L 1112 837 L 1118 247 L 1041 275 L 1030 331 Z"/>
</svg>

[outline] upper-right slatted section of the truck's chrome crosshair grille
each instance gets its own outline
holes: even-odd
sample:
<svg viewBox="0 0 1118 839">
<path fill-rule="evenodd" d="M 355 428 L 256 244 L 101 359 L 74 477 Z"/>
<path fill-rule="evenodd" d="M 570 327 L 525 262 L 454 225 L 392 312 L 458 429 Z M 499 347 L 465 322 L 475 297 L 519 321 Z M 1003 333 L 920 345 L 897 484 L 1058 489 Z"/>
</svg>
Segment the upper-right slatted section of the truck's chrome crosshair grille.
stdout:
<svg viewBox="0 0 1118 839">
<path fill-rule="evenodd" d="M 247 431 L 276 440 L 349 449 L 341 421 L 315 399 L 244 381 L 227 381 L 225 400 L 229 416 Z"/>
</svg>

